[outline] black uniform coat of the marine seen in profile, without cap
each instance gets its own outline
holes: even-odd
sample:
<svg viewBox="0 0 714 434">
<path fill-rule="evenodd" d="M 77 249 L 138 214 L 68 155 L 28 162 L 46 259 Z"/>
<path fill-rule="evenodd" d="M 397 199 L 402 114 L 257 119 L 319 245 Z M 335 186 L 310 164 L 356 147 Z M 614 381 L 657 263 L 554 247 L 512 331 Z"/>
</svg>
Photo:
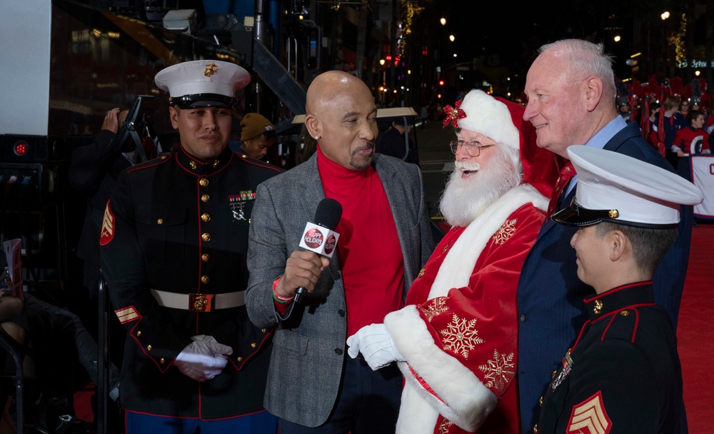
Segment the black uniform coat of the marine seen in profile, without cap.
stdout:
<svg viewBox="0 0 714 434">
<path fill-rule="evenodd" d="M 585 303 L 589 320 L 543 395 L 537 432 L 679 433 L 677 340 L 652 282 Z"/>
</svg>

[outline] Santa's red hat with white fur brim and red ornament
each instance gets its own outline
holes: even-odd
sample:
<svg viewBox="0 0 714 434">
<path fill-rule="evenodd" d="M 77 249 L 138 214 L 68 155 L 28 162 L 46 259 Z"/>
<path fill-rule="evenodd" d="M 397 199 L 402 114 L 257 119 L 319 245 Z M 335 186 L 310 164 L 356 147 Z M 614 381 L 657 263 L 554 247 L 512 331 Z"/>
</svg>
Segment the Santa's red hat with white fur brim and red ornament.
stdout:
<svg viewBox="0 0 714 434">
<path fill-rule="evenodd" d="M 498 143 L 519 149 L 523 164 L 523 178 L 550 198 L 557 183 L 562 157 L 535 145 L 535 128 L 523 120 L 526 109 L 506 99 L 493 97 L 473 89 L 456 103 L 456 108 L 447 106 L 444 126 L 453 126 L 474 133 L 481 133 Z"/>
</svg>

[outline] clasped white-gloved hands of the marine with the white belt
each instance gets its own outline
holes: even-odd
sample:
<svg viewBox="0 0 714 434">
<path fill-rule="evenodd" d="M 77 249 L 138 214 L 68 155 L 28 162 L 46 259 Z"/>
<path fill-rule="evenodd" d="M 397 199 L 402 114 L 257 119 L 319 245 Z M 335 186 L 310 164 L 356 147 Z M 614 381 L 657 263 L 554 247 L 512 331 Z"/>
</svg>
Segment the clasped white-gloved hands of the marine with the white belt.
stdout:
<svg viewBox="0 0 714 434">
<path fill-rule="evenodd" d="M 201 383 L 211 380 L 226 367 L 233 348 L 218 343 L 213 336 L 197 335 L 191 339 L 193 342 L 176 356 L 174 365 L 193 380 Z"/>
</svg>

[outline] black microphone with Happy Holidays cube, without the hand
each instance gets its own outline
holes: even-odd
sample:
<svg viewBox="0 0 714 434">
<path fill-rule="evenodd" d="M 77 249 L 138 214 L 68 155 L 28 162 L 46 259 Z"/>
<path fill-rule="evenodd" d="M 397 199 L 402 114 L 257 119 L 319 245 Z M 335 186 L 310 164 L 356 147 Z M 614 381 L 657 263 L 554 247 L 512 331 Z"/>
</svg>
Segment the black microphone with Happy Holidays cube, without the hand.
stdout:
<svg viewBox="0 0 714 434">
<path fill-rule="evenodd" d="M 340 234 L 333 231 L 337 227 L 342 217 L 342 206 L 338 201 L 331 198 L 324 198 L 320 201 L 315 211 L 315 223 L 305 225 L 305 231 L 300 239 L 300 247 L 312 251 L 321 256 L 332 258 L 337 248 L 337 240 Z M 298 288 L 295 291 L 295 302 L 301 303 L 305 288 Z"/>
</svg>

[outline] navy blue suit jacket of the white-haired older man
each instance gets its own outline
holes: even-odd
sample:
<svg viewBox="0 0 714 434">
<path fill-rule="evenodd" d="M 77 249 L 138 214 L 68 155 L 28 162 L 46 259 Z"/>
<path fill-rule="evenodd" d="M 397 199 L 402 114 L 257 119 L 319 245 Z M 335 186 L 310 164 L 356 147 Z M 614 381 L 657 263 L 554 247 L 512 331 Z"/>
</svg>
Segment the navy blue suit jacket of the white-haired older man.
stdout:
<svg viewBox="0 0 714 434">
<path fill-rule="evenodd" d="M 630 123 L 605 144 L 605 149 L 674 171 L 645 141 L 637 123 Z M 563 200 L 570 203 L 575 188 Z M 679 304 L 687 273 L 693 210 L 680 210 L 679 237 L 653 276 L 655 301 L 677 326 Z M 518 392 L 521 426 L 533 432 L 538 420 L 538 400 L 575 341 L 587 316 L 583 298 L 595 290 L 578 279 L 575 251 L 570 238 L 578 228 L 548 221 L 528 253 L 518 282 Z"/>
</svg>

